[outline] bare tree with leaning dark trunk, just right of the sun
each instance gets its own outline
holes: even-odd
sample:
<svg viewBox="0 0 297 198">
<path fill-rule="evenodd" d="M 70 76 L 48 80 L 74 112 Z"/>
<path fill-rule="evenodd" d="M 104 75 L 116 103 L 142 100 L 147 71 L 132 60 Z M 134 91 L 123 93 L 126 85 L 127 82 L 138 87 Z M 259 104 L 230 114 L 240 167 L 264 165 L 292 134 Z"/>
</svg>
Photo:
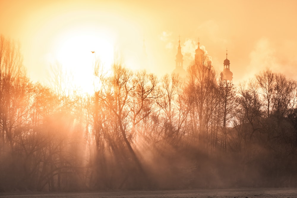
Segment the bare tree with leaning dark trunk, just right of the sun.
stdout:
<svg viewBox="0 0 297 198">
<path fill-rule="evenodd" d="M 148 177 L 143 165 L 132 147 L 133 142 L 129 141 L 129 134 L 131 133 L 131 127 L 129 126 L 129 113 L 131 108 L 129 107 L 131 107 L 132 92 L 136 86 L 133 85 L 132 79 L 133 74 L 130 70 L 121 65 L 113 65 L 113 75 L 102 79 L 102 87 L 97 97 L 99 104 L 106 107 L 110 115 L 114 117 L 112 120 L 114 131 L 119 132 L 116 133 L 116 135 L 121 135 L 119 140 L 122 140 L 126 145 L 130 155 L 129 158 L 135 163 L 136 170 L 141 175 L 140 178 L 147 181 Z M 121 144 L 117 141 L 115 145 L 119 146 Z M 123 149 L 121 152 L 123 152 Z M 131 175 L 131 172 L 127 172 L 123 182 L 120 184 L 120 188 L 124 185 L 129 175 Z"/>
</svg>

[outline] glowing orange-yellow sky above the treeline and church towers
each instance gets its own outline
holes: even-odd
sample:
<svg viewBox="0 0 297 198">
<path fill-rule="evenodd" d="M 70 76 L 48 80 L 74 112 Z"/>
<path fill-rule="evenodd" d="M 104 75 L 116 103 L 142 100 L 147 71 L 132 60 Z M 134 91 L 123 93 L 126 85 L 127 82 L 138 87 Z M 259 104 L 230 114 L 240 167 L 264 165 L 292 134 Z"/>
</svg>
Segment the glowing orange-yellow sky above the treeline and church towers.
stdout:
<svg viewBox="0 0 297 198">
<path fill-rule="evenodd" d="M 59 57 L 77 71 L 88 67 L 93 50 L 107 63 L 117 50 L 124 64 L 143 69 L 143 35 L 145 69 L 171 73 L 179 34 L 185 69 L 200 37 L 219 72 L 228 47 L 233 83 L 267 66 L 297 80 L 296 21 L 297 1 L 0 0 L 0 34 L 20 41 L 34 81 Z"/>
</svg>

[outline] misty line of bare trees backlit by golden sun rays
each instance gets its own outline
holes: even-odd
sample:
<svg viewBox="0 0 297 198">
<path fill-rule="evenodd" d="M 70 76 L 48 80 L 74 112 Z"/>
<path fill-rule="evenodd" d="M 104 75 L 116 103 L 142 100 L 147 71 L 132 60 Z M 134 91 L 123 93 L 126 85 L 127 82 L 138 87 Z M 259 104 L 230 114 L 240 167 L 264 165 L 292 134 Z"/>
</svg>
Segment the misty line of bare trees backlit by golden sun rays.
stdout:
<svg viewBox="0 0 297 198">
<path fill-rule="evenodd" d="M 296 187 L 297 82 L 266 69 L 233 85 L 205 52 L 187 72 L 97 63 L 94 94 L 70 93 L 58 69 L 32 83 L 1 36 L 0 191 Z"/>
</svg>

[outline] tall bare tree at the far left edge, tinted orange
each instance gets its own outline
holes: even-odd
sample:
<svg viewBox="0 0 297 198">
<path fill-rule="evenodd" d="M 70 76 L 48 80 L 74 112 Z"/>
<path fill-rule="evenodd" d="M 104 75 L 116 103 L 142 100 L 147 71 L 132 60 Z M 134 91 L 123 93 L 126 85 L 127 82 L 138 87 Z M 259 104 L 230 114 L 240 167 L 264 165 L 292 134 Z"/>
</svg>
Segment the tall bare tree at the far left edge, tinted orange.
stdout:
<svg viewBox="0 0 297 198">
<path fill-rule="evenodd" d="M 23 100 L 29 88 L 29 79 L 25 76 L 23 59 L 19 46 L 0 37 L 0 126 L 2 143 L 9 144 L 13 151 L 15 127 L 24 114 Z"/>
</svg>

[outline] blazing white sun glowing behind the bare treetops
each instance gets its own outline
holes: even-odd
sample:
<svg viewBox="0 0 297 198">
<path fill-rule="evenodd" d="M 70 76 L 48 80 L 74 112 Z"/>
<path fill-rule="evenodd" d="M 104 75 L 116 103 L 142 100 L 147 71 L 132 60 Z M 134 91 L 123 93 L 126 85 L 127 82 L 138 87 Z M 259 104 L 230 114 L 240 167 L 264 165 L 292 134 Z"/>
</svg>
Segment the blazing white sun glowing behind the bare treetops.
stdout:
<svg viewBox="0 0 297 198">
<path fill-rule="evenodd" d="M 114 38 L 104 28 L 71 28 L 61 33 L 54 47 L 54 58 L 73 79 L 72 87 L 94 92 L 94 64 L 100 61 L 108 72 L 113 63 Z"/>
</svg>

